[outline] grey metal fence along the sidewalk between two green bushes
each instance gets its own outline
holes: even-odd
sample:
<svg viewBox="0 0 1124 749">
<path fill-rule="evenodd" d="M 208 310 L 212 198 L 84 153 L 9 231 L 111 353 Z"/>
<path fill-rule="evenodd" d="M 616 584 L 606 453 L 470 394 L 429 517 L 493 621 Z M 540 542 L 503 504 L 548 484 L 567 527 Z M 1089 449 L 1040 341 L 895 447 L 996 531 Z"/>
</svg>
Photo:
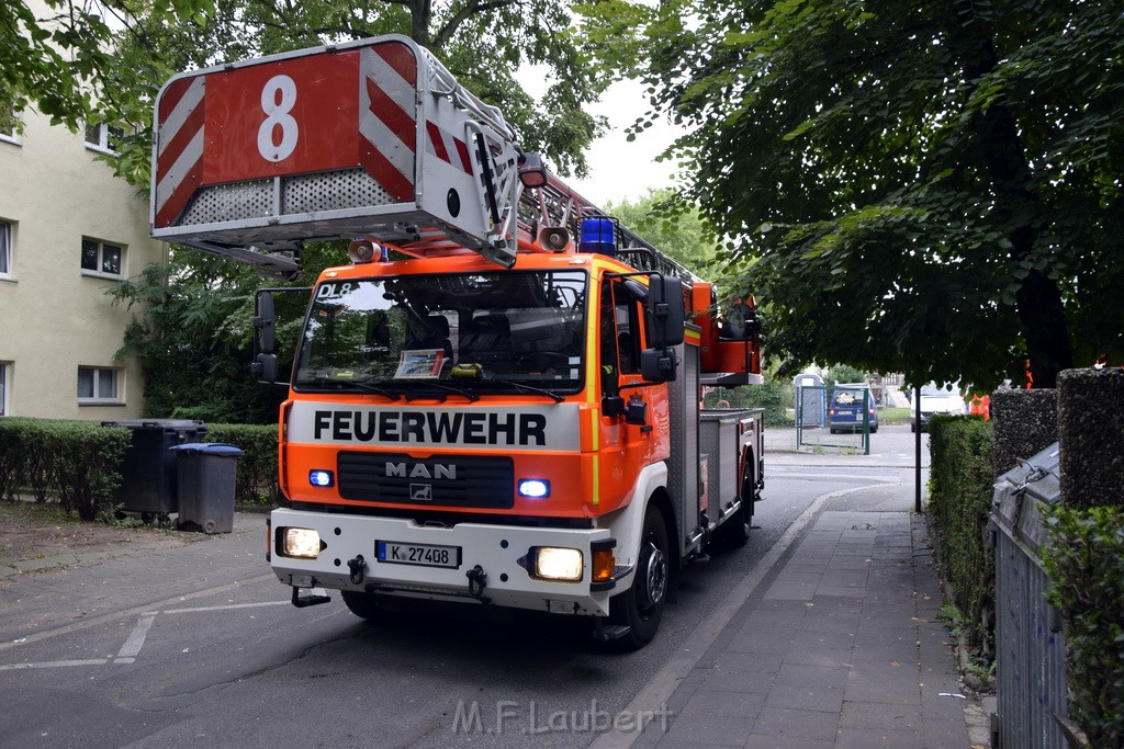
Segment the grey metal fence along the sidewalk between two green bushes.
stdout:
<svg viewBox="0 0 1124 749">
<path fill-rule="evenodd" d="M 1042 508 L 1060 499 L 1058 445 L 995 485 L 996 697 L 998 747 L 1064 749 L 1066 641 L 1060 612 L 1046 603 Z"/>
</svg>

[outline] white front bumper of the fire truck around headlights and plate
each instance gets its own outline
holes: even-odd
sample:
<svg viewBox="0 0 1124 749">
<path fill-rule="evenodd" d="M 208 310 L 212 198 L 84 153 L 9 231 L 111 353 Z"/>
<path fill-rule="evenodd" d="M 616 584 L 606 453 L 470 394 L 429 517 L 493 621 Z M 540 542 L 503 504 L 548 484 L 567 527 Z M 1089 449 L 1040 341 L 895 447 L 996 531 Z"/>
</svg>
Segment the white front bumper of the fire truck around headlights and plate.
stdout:
<svg viewBox="0 0 1124 749">
<path fill-rule="evenodd" d="M 278 579 L 294 587 L 319 586 L 601 616 L 609 613 L 609 595 L 624 590 L 620 587 L 623 575 L 608 583 L 591 579 L 593 549 L 613 545 L 609 530 L 604 528 L 582 530 L 483 523 L 437 528 L 397 518 L 297 510 L 274 510 L 270 521 L 270 565 Z M 280 540 L 287 528 L 317 531 L 319 555 L 315 559 L 284 556 Z M 380 541 L 383 542 L 381 555 Z M 437 550 L 436 555 L 430 551 L 428 561 L 451 566 L 427 564 L 426 559 L 411 563 L 406 555 L 392 558 L 396 556 L 392 549 L 401 551 L 410 547 Z M 533 577 L 533 550 L 541 547 L 579 550 L 581 579 L 559 582 Z M 356 561 L 359 557 L 362 561 Z M 481 572 L 486 577 L 481 577 Z"/>
</svg>

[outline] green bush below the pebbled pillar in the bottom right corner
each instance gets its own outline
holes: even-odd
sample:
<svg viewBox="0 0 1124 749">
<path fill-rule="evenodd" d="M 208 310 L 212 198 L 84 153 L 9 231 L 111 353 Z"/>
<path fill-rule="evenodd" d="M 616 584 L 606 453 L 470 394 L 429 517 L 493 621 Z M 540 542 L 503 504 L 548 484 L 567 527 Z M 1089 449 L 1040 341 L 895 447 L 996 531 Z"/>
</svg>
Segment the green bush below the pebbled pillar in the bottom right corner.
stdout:
<svg viewBox="0 0 1124 749">
<path fill-rule="evenodd" d="M 1124 508 L 1054 508 L 1043 564 L 1066 632 L 1069 714 L 1094 747 L 1124 746 Z"/>
</svg>

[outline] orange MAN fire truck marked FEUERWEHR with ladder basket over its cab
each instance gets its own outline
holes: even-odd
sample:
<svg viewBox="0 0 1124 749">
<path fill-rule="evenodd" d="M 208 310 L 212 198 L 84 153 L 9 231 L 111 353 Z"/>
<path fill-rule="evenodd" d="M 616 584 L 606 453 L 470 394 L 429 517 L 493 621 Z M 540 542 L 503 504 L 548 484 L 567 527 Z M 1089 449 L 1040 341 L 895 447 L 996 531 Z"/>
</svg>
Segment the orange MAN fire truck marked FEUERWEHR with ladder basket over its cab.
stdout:
<svg viewBox="0 0 1124 749">
<path fill-rule="evenodd" d="M 762 414 L 701 393 L 761 382 L 753 300 L 719 314 L 429 52 L 392 35 L 180 74 L 154 126 L 154 237 L 274 275 L 350 243 L 303 292 L 280 410 L 266 554 L 296 605 L 537 610 L 638 648 L 685 565 L 746 542 Z"/>
</svg>

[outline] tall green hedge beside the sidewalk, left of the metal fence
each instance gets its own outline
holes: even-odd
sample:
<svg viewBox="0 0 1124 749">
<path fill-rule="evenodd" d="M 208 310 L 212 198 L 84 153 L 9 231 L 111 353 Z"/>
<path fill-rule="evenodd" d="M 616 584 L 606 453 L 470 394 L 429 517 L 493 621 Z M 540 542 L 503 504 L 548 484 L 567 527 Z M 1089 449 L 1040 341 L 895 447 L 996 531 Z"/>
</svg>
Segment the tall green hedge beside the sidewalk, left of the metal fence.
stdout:
<svg viewBox="0 0 1124 749">
<path fill-rule="evenodd" d="M 991 424 L 980 417 L 934 415 L 928 422 L 928 511 L 937 554 L 964 613 L 964 636 L 990 651 L 995 558 L 984 545 L 991 510 Z"/>
</svg>

